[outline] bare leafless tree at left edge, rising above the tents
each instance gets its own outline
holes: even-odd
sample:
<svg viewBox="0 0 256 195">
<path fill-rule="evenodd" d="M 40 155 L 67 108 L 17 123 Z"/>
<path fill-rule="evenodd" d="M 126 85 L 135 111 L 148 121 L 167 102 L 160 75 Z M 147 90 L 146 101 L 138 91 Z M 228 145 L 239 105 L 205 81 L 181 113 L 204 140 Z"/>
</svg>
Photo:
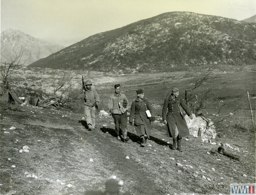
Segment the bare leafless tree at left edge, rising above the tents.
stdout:
<svg viewBox="0 0 256 195">
<path fill-rule="evenodd" d="M 14 69 L 17 69 L 18 67 L 24 65 L 24 63 L 26 62 L 26 61 L 22 62 L 22 59 L 21 59 L 24 53 L 23 47 L 20 49 L 19 53 L 15 52 L 14 49 L 13 49 L 13 52 L 15 53 L 15 57 L 12 58 L 10 55 L 11 61 L 9 63 L 5 61 L 3 65 L 1 64 L 1 77 L 3 80 L 3 87 L 1 87 L 2 93 L 4 93 L 7 89 L 9 89 L 9 81 L 8 81 L 9 75 L 13 73 Z"/>
</svg>

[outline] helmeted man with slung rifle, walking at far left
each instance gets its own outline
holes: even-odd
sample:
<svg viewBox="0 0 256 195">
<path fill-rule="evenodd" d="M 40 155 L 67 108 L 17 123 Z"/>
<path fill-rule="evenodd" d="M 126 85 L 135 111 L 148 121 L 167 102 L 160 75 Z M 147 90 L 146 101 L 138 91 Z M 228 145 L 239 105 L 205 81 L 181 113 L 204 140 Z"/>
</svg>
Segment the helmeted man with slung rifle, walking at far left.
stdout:
<svg viewBox="0 0 256 195">
<path fill-rule="evenodd" d="M 85 101 L 85 117 L 88 130 L 93 130 L 95 129 L 95 107 L 99 105 L 99 95 L 97 91 L 92 88 L 92 82 L 90 80 L 85 81 L 85 90 L 81 94 L 81 99 Z"/>
</svg>

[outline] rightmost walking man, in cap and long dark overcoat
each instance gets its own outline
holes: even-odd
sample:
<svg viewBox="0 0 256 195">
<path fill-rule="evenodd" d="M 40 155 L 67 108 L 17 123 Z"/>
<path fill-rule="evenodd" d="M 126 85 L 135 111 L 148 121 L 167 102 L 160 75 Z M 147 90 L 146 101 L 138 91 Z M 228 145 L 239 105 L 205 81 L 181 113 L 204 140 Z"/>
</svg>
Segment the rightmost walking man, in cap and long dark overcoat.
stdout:
<svg viewBox="0 0 256 195">
<path fill-rule="evenodd" d="M 167 137 L 173 138 L 171 149 L 175 150 L 176 144 L 178 144 L 178 150 L 182 151 L 181 139 L 189 135 L 189 128 L 180 107 L 184 109 L 190 119 L 193 119 L 190 109 L 179 96 L 179 90 L 173 87 L 171 89 L 171 95 L 165 99 L 162 109 L 162 118 L 164 124 L 167 126 Z"/>
</svg>

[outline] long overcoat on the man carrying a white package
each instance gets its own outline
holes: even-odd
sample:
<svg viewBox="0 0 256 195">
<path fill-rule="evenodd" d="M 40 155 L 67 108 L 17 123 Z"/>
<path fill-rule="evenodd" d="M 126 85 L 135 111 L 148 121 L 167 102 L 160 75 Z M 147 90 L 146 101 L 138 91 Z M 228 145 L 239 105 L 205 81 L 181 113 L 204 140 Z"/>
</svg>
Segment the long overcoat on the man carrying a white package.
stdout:
<svg viewBox="0 0 256 195">
<path fill-rule="evenodd" d="M 134 126 L 138 136 L 144 135 L 142 128 L 145 128 L 148 139 L 150 139 L 151 133 L 151 122 L 150 118 L 147 117 L 146 110 L 149 110 L 152 117 L 155 117 L 153 106 L 150 104 L 148 99 L 144 98 L 142 101 L 137 97 L 131 104 L 129 122 L 134 119 Z"/>
</svg>

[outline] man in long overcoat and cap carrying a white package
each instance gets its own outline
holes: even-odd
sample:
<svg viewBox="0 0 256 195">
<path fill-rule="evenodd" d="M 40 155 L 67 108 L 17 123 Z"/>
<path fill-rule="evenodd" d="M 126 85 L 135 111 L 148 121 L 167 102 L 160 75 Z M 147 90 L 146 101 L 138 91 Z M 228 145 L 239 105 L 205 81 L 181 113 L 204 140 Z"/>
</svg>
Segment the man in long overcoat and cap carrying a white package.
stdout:
<svg viewBox="0 0 256 195">
<path fill-rule="evenodd" d="M 130 107 L 129 123 L 132 125 L 134 119 L 134 126 L 137 135 L 141 138 L 141 146 L 146 145 L 147 138 L 150 139 L 151 122 L 155 121 L 155 111 L 148 99 L 144 98 L 144 91 L 139 89 L 136 91 L 137 98 L 132 102 Z M 151 117 L 148 117 L 146 110 L 149 110 Z"/>
</svg>

